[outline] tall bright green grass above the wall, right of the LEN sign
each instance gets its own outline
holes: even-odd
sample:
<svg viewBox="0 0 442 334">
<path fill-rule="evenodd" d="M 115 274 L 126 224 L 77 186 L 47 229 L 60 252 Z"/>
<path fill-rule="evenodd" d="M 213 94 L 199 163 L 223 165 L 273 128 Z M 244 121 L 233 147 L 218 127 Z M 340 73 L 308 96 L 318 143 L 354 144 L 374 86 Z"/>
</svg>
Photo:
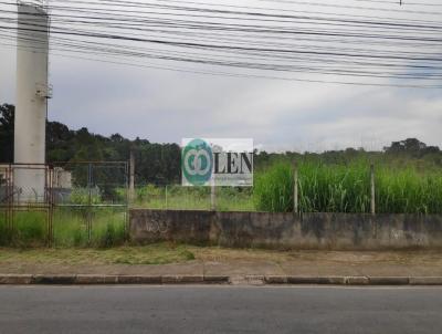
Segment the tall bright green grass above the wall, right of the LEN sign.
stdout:
<svg viewBox="0 0 442 334">
<path fill-rule="evenodd" d="M 370 170 L 367 161 L 298 165 L 302 212 L 369 212 Z M 442 213 L 442 173 L 414 168 L 376 169 L 376 202 L 380 213 Z M 255 176 L 257 210 L 293 210 L 293 168 L 280 163 Z"/>
</svg>

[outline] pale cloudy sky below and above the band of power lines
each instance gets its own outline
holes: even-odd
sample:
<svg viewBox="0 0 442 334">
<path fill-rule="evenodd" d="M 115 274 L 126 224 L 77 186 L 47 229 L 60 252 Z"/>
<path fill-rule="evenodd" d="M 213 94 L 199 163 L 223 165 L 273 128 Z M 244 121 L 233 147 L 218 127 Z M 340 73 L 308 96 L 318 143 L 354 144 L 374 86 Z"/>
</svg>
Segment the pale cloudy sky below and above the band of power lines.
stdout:
<svg viewBox="0 0 442 334">
<path fill-rule="evenodd" d="M 256 4 L 256 0 L 234 3 L 240 2 Z M 361 6 L 354 0 L 339 3 Z M 397 4 L 387 8 L 396 9 Z M 344 8 L 339 12 L 351 15 L 356 10 Z M 0 103 L 15 102 L 15 66 L 14 48 L 0 44 Z M 187 67 L 200 69 L 194 64 Z M 323 79 L 316 74 L 292 77 L 297 75 Z M 54 95 L 49 119 L 102 135 L 119 133 L 155 143 L 180 143 L 191 137 L 253 138 L 256 148 L 276 152 L 381 149 L 408 137 L 442 146 L 440 88 L 203 75 L 97 62 L 87 56 L 73 59 L 52 51 L 50 82 Z"/>
</svg>

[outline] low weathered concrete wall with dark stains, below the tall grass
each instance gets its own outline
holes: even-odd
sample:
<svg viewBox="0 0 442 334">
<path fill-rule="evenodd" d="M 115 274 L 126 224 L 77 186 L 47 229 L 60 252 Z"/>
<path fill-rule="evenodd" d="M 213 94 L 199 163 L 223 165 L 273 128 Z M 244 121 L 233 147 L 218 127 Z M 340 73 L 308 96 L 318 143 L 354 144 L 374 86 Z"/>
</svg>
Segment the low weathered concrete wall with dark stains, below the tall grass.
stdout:
<svg viewBox="0 0 442 334">
<path fill-rule="evenodd" d="M 442 248 L 442 216 L 130 210 L 138 243 L 275 249 Z"/>
</svg>

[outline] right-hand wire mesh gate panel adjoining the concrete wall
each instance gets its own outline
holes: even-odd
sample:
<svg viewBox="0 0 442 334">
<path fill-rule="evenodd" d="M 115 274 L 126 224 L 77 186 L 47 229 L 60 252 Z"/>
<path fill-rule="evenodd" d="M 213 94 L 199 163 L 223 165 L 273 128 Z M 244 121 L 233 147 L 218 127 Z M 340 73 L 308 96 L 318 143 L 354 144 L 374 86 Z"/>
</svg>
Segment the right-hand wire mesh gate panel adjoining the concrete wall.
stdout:
<svg viewBox="0 0 442 334">
<path fill-rule="evenodd" d="M 128 164 L 54 164 L 54 240 L 110 247 L 127 240 Z"/>
</svg>

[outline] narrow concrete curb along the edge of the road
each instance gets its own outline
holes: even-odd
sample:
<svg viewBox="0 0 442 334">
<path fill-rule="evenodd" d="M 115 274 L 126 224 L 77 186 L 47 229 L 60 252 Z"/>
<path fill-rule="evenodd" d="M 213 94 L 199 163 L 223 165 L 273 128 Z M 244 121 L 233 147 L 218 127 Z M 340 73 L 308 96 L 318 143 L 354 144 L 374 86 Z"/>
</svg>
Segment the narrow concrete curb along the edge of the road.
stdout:
<svg viewBox="0 0 442 334">
<path fill-rule="evenodd" d="M 442 276 L 0 274 L 0 285 L 28 284 L 442 285 Z"/>
</svg>

